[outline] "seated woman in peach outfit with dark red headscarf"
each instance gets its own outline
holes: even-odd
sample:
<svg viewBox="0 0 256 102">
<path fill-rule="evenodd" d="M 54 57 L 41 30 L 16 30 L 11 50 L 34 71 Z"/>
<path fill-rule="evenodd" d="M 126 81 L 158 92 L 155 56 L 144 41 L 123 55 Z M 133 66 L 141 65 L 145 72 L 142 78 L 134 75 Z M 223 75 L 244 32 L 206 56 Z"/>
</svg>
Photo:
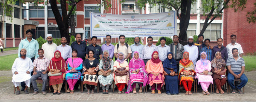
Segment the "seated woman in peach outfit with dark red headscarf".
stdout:
<svg viewBox="0 0 256 102">
<path fill-rule="evenodd" d="M 151 86 L 151 93 L 155 94 L 155 84 L 157 84 L 158 94 L 161 93 L 161 88 L 165 84 L 165 76 L 163 75 L 163 64 L 158 57 L 158 52 L 154 51 L 151 59 L 146 64 L 146 71 L 148 72 L 148 84 Z"/>
</svg>

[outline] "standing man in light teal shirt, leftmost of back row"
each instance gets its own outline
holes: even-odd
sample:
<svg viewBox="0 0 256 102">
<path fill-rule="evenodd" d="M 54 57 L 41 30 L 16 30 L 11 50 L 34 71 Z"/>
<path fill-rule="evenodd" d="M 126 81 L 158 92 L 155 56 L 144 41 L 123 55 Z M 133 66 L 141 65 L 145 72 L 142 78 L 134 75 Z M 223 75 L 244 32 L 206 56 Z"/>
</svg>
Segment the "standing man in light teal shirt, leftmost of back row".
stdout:
<svg viewBox="0 0 256 102">
<path fill-rule="evenodd" d="M 22 48 L 25 48 L 27 50 L 26 57 L 30 58 L 32 62 L 34 62 L 35 58 L 38 58 L 37 50 L 39 49 L 39 44 L 37 40 L 33 39 L 33 31 L 27 30 L 26 31 L 27 37 L 20 41 L 18 52 Z M 20 53 L 18 53 L 18 56 L 20 56 Z"/>
</svg>

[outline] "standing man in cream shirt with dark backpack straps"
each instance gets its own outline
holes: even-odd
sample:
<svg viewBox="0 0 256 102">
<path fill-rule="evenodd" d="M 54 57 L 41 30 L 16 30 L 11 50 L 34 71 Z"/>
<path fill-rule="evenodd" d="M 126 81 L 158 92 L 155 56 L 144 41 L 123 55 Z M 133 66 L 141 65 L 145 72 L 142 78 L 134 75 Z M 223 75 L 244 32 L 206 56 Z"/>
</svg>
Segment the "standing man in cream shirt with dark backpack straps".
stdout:
<svg viewBox="0 0 256 102">
<path fill-rule="evenodd" d="M 125 35 L 120 35 L 119 36 L 119 44 L 116 44 L 114 48 L 114 56 L 117 59 L 117 53 L 122 52 L 123 53 L 123 58 L 125 61 L 127 61 L 128 58 L 131 57 L 131 47 L 129 44 L 125 43 Z M 127 61 L 128 62 L 128 61 Z"/>
</svg>

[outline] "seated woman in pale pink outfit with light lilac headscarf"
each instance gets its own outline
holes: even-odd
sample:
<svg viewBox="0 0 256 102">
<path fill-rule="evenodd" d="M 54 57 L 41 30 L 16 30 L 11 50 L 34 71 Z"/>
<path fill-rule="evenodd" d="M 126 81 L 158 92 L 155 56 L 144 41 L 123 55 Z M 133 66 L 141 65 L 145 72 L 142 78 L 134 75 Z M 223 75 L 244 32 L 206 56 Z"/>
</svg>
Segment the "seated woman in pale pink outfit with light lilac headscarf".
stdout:
<svg viewBox="0 0 256 102">
<path fill-rule="evenodd" d="M 207 89 L 213 83 L 211 69 L 211 62 L 207 59 L 206 52 L 201 52 L 201 58 L 195 66 L 195 72 L 197 73 L 195 78 L 198 79 L 198 84 L 201 84 L 204 95 L 210 95 Z"/>
</svg>

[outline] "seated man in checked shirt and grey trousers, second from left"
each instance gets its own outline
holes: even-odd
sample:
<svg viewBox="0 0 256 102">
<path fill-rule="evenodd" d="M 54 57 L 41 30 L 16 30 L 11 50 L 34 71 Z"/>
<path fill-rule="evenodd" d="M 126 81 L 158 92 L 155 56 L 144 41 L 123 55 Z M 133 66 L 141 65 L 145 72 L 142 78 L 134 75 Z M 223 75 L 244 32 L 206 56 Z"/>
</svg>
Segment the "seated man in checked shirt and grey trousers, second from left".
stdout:
<svg viewBox="0 0 256 102">
<path fill-rule="evenodd" d="M 50 60 L 44 57 L 44 50 L 38 49 L 38 55 L 39 57 L 35 59 L 34 61 L 34 69 L 33 69 L 33 75 L 31 78 L 31 83 L 34 87 L 34 93 L 33 95 L 36 95 L 38 93 L 38 87 L 37 87 L 37 78 L 41 77 L 43 80 L 43 87 L 42 87 L 42 93 L 43 95 L 46 95 L 45 89 L 48 82 L 48 66 L 50 63 Z"/>
</svg>

